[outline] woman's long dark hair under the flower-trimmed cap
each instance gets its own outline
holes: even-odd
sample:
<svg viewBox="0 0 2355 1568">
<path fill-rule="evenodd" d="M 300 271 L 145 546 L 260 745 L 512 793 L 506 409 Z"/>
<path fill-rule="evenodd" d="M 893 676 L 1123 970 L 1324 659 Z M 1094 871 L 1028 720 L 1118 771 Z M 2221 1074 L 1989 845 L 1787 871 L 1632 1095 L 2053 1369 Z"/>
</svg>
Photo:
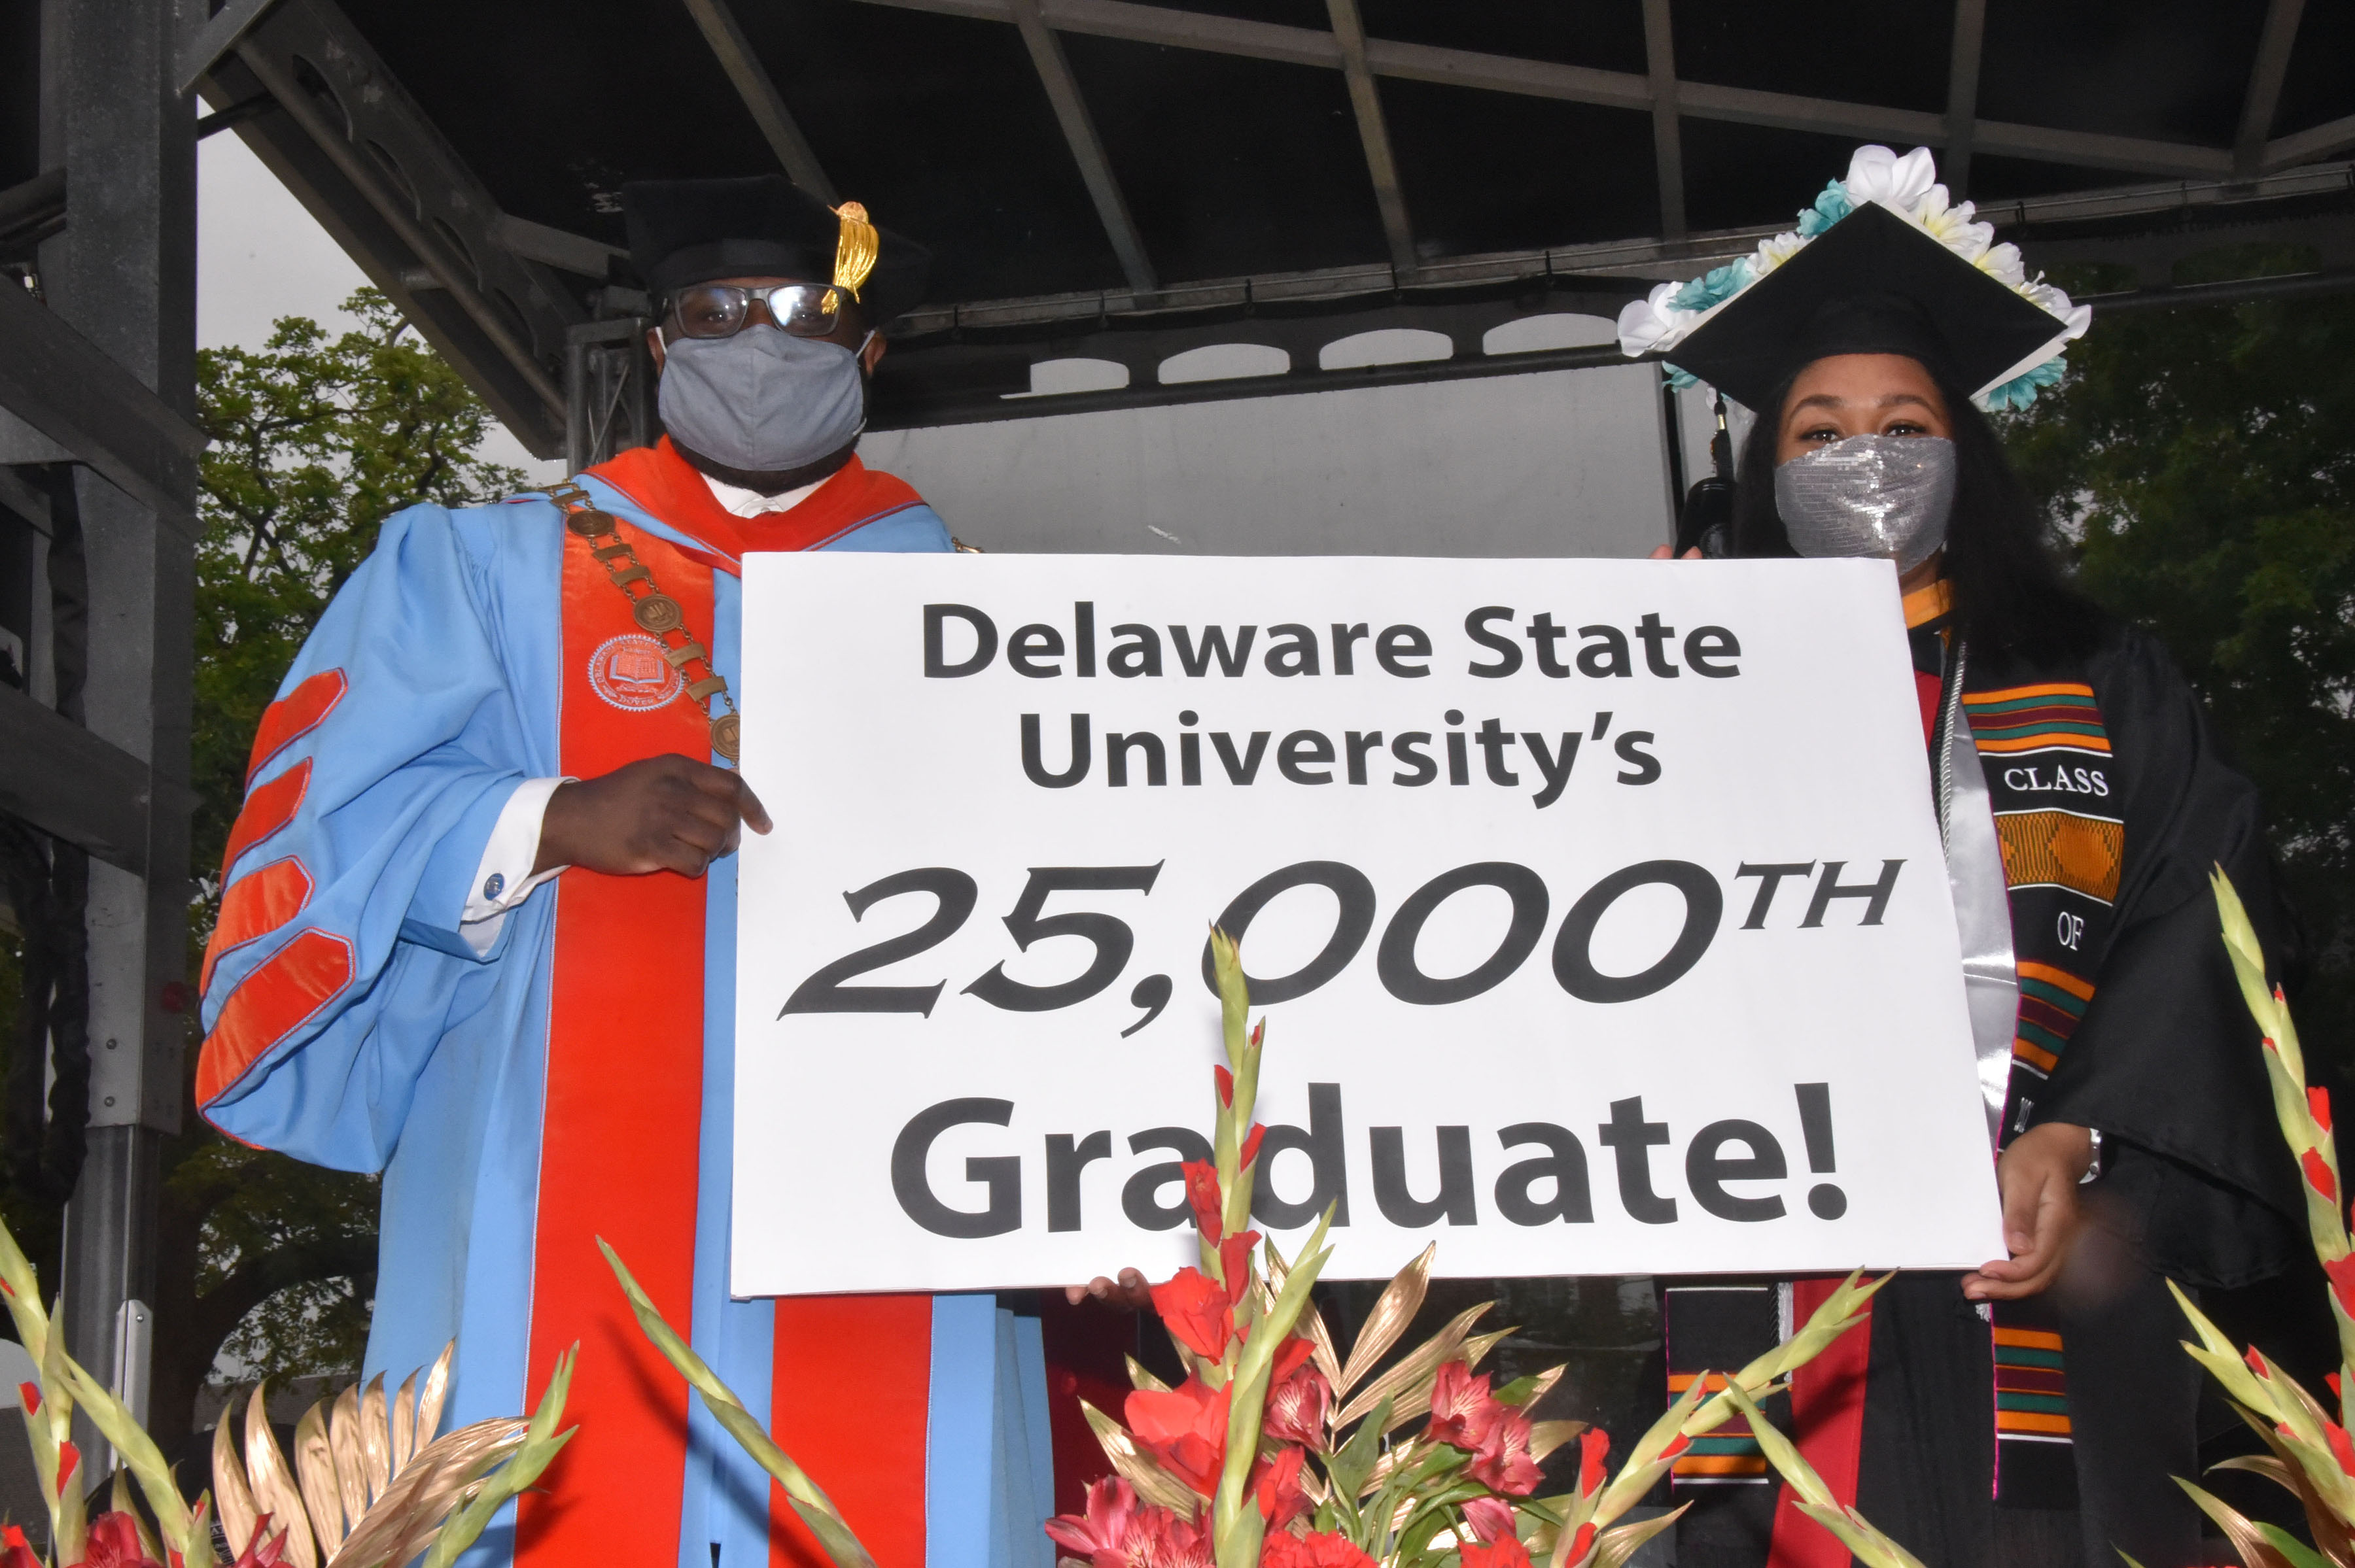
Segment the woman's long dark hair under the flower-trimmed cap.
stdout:
<svg viewBox="0 0 2355 1568">
<path fill-rule="evenodd" d="M 1926 370 L 1955 426 L 1955 518 L 1945 534 L 1955 626 L 1981 652 L 2023 659 L 2091 652 L 2108 617 L 2061 572 L 2044 516 L 2004 459 L 1995 426 L 1936 365 Z M 1736 556 L 1797 556 L 1773 504 L 1776 440 L 1797 379 L 1792 372 L 1776 388 L 1743 440 L 1733 476 Z"/>
</svg>

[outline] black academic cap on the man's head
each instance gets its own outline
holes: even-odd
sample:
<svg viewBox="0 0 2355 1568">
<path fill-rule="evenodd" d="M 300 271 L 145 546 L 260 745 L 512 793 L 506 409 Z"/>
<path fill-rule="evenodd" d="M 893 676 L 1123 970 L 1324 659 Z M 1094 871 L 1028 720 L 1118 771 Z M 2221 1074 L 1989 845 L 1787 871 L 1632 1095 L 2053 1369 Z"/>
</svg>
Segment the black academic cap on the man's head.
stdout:
<svg viewBox="0 0 2355 1568">
<path fill-rule="evenodd" d="M 622 186 L 629 259 L 655 294 L 714 278 L 834 280 L 843 221 L 782 174 L 749 179 L 633 179 Z M 876 231 L 874 271 L 860 285 L 869 325 L 923 301 L 933 252 Z"/>
</svg>

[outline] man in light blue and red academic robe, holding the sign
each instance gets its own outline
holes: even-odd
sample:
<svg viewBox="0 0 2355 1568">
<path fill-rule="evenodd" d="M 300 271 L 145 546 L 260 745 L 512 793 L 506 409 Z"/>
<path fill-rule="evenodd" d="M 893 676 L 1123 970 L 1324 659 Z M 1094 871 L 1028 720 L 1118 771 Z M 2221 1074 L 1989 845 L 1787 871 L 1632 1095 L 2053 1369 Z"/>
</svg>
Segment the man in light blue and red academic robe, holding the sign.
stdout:
<svg viewBox="0 0 2355 1568">
<path fill-rule="evenodd" d="M 994 1493 L 1020 1504 L 991 1464 L 1008 1434 L 1027 1453 L 1024 1406 L 1039 1424 L 1036 1356 L 989 1297 L 730 1300 L 728 1217 L 730 850 L 836 831 L 772 829 L 730 768 L 742 560 L 951 549 L 855 454 L 926 252 L 775 177 L 622 200 L 669 436 L 384 525 L 254 739 L 198 1104 L 384 1172 L 367 1373 L 455 1337 L 450 1427 L 530 1410 L 579 1342 L 579 1436 L 476 1561 L 822 1561 L 641 1340 L 603 1236 L 881 1568 L 921 1568 L 989 1530 Z"/>
</svg>

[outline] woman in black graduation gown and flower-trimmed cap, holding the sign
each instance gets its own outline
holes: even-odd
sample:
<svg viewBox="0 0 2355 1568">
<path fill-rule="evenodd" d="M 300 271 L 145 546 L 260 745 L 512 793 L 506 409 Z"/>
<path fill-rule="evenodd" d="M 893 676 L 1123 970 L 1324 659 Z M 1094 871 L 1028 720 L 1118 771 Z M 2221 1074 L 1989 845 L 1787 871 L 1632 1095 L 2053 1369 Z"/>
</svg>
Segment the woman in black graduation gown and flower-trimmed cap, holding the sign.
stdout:
<svg viewBox="0 0 2355 1568">
<path fill-rule="evenodd" d="M 1973 405 L 2058 379 L 2087 320 L 1926 151 L 1889 148 L 1797 233 L 1620 320 L 1630 353 L 1757 410 L 1731 553 L 1898 567 L 2011 1257 L 1893 1281 L 1787 1422 L 1931 1568 L 2204 1561 L 2169 1479 L 2197 1474 L 2197 1368 L 2164 1281 L 2244 1285 L 2303 1250 L 2207 885 L 2221 864 L 2275 911 L 2256 791 L 2157 643 L 2065 582 Z M 1672 1288 L 1670 1373 L 1740 1363 L 1773 1290 L 1745 1318 L 1740 1290 Z M 1684 1568 L 1849 1561 L 1719 1448 L 1677 1476 Z"/>
</svg>

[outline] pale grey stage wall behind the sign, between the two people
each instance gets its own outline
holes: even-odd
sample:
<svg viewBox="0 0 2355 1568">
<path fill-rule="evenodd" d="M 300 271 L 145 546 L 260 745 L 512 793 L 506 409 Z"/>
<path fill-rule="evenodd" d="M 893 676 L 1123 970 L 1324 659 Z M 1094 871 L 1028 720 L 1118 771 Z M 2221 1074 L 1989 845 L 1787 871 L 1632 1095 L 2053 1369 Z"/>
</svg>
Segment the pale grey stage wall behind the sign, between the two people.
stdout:
<svg viewBox="0 0 2355 1568">
<path fill-rule="evenodd" d="M 878 431 L 989 551 L 1644 556 L 1672 511 L 1653 365 Z"/>
</svg>

